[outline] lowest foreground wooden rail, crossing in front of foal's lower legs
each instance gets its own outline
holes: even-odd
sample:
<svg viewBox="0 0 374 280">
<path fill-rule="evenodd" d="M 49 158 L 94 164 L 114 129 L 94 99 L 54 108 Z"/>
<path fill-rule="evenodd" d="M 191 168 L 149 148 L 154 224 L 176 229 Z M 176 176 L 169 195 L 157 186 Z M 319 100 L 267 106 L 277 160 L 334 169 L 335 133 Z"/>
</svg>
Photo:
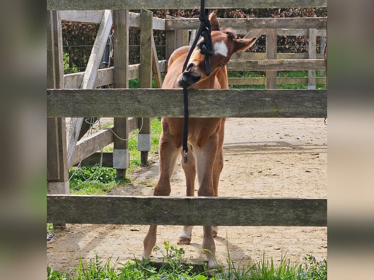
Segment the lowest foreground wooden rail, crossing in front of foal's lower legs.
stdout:
<svg viewBox="0 0 374 280">
<path fill-rule="evenodd" d="M 47 222 L 327 226 L 327 199 L 47 195 Z"/>
</svg>

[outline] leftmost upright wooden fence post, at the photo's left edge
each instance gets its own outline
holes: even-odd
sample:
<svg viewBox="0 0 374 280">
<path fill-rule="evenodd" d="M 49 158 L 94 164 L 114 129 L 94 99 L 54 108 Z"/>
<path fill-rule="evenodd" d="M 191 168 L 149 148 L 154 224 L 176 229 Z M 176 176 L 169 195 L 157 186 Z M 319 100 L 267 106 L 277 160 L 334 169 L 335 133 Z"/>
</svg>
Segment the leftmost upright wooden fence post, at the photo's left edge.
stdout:
<svg viewBox="0 0 374 280">
<path fill-rule="evenodd" d="M 58 11 L 47 11 L 47 88 L 64 88 L 62 31 Z M 47 118 L 47 193 L 68 194 L 65 118 Z M 65 223 L 55 223 L 64 228 Z"/>
</svg>

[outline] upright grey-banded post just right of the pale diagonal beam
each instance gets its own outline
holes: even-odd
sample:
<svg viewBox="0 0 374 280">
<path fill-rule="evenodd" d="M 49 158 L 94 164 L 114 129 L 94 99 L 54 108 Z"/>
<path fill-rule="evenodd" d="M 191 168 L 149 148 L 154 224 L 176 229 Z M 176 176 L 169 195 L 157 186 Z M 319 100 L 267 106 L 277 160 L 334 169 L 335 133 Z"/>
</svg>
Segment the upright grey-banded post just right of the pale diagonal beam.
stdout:
<svg viewBox="0 0 374 280">
<path fill-rule="evenodd" d="M 128 10 L 114 10 L 114 87 L 128 88 Z M 127 118 L 114 118 L 114 132 L 122 139 L 128 139 Z M 128 140 L 113 136 L 113 168 L 118 178 L 126 178 L 130 156 Z"/>
</svg>

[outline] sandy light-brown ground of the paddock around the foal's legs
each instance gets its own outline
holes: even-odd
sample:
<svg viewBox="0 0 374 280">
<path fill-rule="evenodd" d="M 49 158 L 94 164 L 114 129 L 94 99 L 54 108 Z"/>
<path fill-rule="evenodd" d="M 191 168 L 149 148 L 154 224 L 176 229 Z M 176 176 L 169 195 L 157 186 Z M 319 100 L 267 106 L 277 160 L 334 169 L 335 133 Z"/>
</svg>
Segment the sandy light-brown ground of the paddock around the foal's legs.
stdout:
<svg viewBox="0 0 374 280">
<path fill-rule="evenodd" d="M 219 196 L 327 198 L 327 126 L 323 119 L 228 119 L 225 131 Z M 150 185 L 158 176 L 157 155 L 151 159 L 151 169 L 136 173 L 134 183 L 110 194 L 152 195 Z M 179 163 L 171 180 L 172 196 L 185 195 L 183 175 Z M 95 253 L 103 259 L 130 260 L 141 254 L 147 229 L 146 225 L 67 224 L 65 231 L 47 242 L 47 264 L 71 271 L 80 257 L 89 260 Z M 194 227 L 190 245 L 177 245 L 181 230 L 181 226 L 159 226 L 156 245 L 163 247 L 167 241 L 183 247 L 186 258 L 204 259 L 202 227 Z M 302 261 L 307 254 L 320 260 L 327 257 L 327 228 L 221 226 L 215 243 L 224 265 L 228 251 L 238 264 L 259 261 L 264 254 L 275 261 L 282 256 L 291 262 Z"/>
</svg>

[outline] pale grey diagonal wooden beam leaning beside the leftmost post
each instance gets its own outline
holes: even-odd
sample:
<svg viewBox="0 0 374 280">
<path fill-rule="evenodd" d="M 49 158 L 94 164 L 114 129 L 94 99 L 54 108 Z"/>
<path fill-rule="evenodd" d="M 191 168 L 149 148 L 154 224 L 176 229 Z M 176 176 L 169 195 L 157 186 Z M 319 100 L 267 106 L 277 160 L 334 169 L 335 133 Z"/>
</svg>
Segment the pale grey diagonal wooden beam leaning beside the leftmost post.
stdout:
<svg viewBox="0 0 374 280">
<path fill-rule="evenodd" d="M 104 54 L 105 44 L 112 28 L 113 20 L 110 10 L 105 10 L 101 21 L 91 55 L 89 57 L 86 70 L 83 75 L 81 88 L 93 88 L 96 80 L 97 71 Z M 95 117 L 95 116 L 89 116 Z M 84 117 L 87 118 L 87 117 Z M 71 166 L 71 160 L 75 151 L 75 146 L 79 139 L 83 118 L 71 118 L 67 131 L 67 165 Z"/>
</svg>

